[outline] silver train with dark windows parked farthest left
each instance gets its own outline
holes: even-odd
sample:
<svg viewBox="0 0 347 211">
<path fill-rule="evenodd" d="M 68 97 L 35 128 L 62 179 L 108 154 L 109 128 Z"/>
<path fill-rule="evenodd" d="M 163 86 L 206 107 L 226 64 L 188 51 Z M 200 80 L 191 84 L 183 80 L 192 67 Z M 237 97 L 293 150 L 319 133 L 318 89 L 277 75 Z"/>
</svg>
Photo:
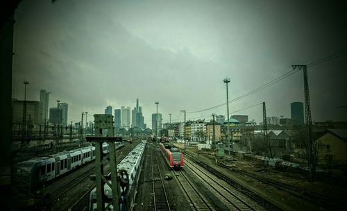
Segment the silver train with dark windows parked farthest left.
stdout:
<svg viewBox="0 0 347 211">
<path fill-rule="evenodd" d="M 108 144 L 104 143 L 103 153 L 108 153 Z M 117 142 L 116 149 L 124 146 Z M 95 160 L 95 146 L 85 146 L 71 151 L 62 151 L 48 156 L 31 158 L 18 162 L 17 174 L 26 181 L 30 190 L 37 189 L 40 185 L 58 178 L 69 171 L 80 167 L 87 162 Z"/>
</svg>

